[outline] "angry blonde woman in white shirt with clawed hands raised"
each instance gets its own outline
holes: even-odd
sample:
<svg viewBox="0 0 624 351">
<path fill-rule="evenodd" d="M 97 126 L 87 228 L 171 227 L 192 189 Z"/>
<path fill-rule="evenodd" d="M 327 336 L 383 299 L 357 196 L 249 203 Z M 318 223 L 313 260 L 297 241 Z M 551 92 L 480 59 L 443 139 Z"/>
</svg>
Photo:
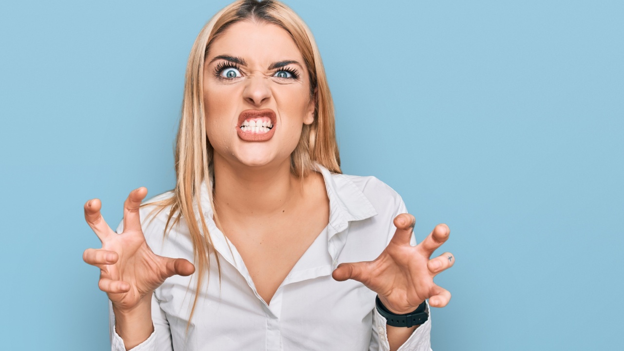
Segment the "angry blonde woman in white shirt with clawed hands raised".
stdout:
<svg viewBox="0 0 624 351">
<path fill-rule="evenodd" d="M 236 1 L 202 29 L 175 156 L 175 189 L 142 205 L 147 189 L 131 192 L 120 235 L 85 204 L 112 349 L 429 350 L 425 299 L 449 302 L 432 279 L 454 263 L 429 257 L 449 229 L 412 246 L 401 197 L 341 174 L 323 65 L 295 12 Z"/>
</svg>

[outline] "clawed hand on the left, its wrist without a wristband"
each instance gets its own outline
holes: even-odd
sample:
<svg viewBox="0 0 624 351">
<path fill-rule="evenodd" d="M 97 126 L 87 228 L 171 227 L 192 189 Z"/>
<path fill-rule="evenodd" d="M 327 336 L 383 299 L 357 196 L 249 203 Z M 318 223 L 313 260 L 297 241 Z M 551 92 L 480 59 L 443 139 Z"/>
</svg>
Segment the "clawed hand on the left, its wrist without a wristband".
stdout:
<svg viewBox="0 0 624 351">
<path fill-rule="evenodd" d="M 132 310 L 139 302 L 172 275 L 190 275 L 193 264 L 185 259 L 170 259 L 154 254 L 145 242 L 139 218 L 139 205 L 147 195 L 140 187 L 130 192 L 124 203 L 124 232 L 117 234 L 106 224 L 98 199 L 84 205 L 84 217 L 102 249 L 87 249 L 84 262 L 100 269 L 100 290 L 106 292 L 115 310 Z"/>
</svg>

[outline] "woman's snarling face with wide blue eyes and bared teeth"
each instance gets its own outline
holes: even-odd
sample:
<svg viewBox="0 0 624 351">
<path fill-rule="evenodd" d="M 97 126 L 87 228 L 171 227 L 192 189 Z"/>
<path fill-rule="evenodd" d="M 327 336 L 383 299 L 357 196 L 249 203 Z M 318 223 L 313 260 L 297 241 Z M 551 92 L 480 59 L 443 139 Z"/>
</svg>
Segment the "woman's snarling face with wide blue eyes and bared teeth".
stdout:
<svg viewBox="0 0 624 351">
<path fill-rule="evenodd" d="M 290 162 L 314 99 L 301 52 L 275 24 L 236 22 L 212 42 L 203 72 L 206 134 L 215 162 Z"/>
</svg>

